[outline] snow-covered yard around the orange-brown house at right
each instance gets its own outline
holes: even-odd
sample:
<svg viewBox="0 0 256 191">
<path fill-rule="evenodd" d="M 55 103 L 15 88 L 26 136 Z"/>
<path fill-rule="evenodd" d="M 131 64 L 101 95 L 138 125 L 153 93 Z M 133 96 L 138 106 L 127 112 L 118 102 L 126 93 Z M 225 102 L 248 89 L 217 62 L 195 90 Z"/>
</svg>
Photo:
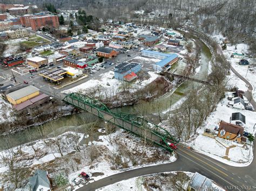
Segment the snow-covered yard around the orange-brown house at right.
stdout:
<svg viewBox="0 0 256 191">
<path fill-rule="evenodd" d="M 212 158 L 224 162 L 228 165 L 250 165 L 250 163 L 253 160 L 252 146 L 247 145 L 246 147 L 249 149 L 246 149 L 244 145 L 236 144 L 233 141 L 216 138 L 218 131 L 214 131 L 214 127 L 218 126 L 221 120 L 230 122 L 230 117 L 232 113 L 240 112 L 246 117 L 246 125 L 244 127 L 245 131 L 254 134 L 255 131 L 253 129 L 253 126 L 255 124 L 256 113 L 248 110 L 239 110 L 227 107 L 227 104 L 228 100 L 226 97 L 218 104 L 216 111 L 211 113 L 211 115 L 206 119 L 203 127 L 198 129 L 197 133 L 199 135 L 196 137 L 196 139 L 194 141 L 189 142 L 187 145 L 191 146 L 193 149 L 200 153 L 211 156 Z M 211 130 L 211 132 L 215 135 L 215 138 L 210 138 L 203 135 L 206 128 Z M 250 144 L 250 142 L 248 142 L 248 144 Z M 231 145 L 237 146 L 234 148 L 230 148 L 230 151 L 228 153 L 229 160 L 226 160 L 223 157 L 226 155 L 226 148 Z"/>
</svg>

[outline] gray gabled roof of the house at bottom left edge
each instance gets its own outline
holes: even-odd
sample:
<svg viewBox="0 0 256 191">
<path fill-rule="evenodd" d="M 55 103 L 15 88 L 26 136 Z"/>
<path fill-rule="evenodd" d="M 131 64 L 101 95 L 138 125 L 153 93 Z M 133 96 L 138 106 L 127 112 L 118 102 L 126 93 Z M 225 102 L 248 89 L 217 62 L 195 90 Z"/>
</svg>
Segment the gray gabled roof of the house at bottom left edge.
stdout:
<svg viewBox="0 0 256 191">
<path fill-rule="evenodd" d="M 36 170 L 35 174 L 30 178 L 31 190 L 37 190 L 38 186 L 50 188 L 50 181 L 47 172 L 44 170 Z"/>
</svg>

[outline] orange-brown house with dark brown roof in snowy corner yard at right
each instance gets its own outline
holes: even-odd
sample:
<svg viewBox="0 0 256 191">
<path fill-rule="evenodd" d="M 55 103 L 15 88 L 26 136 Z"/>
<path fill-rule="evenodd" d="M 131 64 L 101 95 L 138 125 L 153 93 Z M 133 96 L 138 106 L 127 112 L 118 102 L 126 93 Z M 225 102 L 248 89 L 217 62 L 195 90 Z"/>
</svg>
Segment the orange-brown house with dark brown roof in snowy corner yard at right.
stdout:
<svg viewBox="0 0 256 191">
<path fill-rule="evenodd" d="M 219 132 L 218 132 L 219 138 L 241 143 L 243 133 L 244 133 L 244 127 L 240 127 L 234 124 L 229 124 L 228 122 L 225 122 L 225 121 L 220 122 Z"/>
</svg>

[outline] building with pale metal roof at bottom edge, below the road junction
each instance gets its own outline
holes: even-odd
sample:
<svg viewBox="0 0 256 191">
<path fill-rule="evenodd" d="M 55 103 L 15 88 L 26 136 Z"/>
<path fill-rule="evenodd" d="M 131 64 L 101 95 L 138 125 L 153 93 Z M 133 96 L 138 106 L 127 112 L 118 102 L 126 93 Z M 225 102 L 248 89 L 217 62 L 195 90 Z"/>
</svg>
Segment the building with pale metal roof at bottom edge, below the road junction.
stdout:
<svg viewBox="0 0 256 191">
<path fill-rule="evenodd" d="M 212 188 L 212 183 L 212 180 L 196 172 L 188 184 L 187 190 L 207 190 L 207 188 Z"/>
</svg>

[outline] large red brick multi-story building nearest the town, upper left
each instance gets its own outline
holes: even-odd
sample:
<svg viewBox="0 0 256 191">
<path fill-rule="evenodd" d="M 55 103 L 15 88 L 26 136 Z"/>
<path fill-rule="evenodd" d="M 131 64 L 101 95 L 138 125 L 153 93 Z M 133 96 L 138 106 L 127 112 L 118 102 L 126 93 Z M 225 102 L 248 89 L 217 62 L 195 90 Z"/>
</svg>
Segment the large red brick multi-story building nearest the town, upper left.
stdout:
<svg viewBox="0 0 256 191">
<path fill-rule="evenodd" d="M 59 18 L 57 15 L 46 15 L 40 17 L 31 17 L 30 25 L 32 30 L 37 31 L 41 26 L 59 27 Z"/>
</svg>

